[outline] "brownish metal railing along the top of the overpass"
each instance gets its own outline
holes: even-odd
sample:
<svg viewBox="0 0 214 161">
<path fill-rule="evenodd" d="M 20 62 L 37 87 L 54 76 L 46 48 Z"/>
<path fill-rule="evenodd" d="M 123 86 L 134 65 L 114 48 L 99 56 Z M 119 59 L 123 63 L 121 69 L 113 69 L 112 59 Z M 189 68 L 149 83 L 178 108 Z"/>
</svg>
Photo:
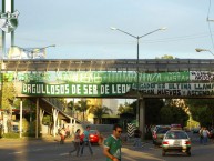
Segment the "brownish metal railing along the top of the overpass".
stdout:
<svg viewBox="0 0 214 161">
<path fill-rule="evenodd" d="M 1 71 L 214 71 L 214 59 L 4 59 Z"/>
</svg>

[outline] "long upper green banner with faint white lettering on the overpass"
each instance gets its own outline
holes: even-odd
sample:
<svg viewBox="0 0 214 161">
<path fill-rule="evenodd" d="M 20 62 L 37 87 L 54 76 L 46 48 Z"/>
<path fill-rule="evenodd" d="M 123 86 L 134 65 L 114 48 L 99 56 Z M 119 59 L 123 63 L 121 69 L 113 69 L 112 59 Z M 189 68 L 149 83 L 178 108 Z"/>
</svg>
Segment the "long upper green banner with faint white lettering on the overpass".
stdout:
<svg viewBox="0 0 214 161">
<path fill-rule="evenodd" d="M 58 76 L 59 81 L 74 83 L 133 83 L 137 82 L 186 82 L 190 72 L 162 72 L 137 73 L 136 72 L 62 72 Z"/>
</svg>

